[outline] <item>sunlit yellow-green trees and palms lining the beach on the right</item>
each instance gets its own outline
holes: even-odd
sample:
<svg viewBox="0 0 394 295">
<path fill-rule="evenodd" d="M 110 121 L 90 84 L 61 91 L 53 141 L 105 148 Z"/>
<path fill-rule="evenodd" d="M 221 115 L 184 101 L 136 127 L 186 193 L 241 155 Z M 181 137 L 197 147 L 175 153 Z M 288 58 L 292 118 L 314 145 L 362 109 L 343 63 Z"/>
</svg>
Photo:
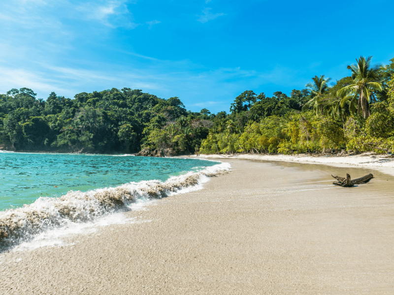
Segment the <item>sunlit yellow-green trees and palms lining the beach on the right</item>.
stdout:
<svg viewBox="0 0 394 295">
<path fill-rule="evenodd" d="M 290 97 L 245 91 L 231 114 L 216 120 L 201 153 L 283 153 L 394 150 L 394 59 L 372 65 L 360 57 L 350 76 L 315 76 Z"/>
</svg>

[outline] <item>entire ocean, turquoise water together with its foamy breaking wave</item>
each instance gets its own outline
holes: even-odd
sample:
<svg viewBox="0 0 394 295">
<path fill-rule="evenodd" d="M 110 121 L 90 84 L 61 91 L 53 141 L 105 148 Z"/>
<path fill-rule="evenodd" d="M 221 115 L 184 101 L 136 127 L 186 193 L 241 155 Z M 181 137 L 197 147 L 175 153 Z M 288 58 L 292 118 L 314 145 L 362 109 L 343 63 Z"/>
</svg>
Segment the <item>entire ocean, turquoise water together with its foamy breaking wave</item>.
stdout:
<svg viewBox="0 0 394 295">
<path fill-rule="evenodd" d="M 51 245 L 48 231 L 123 222 L 136 204 L 199 189 L 229 168 L 196 158 L 1 152 L 0 247 L 40 235 Z"/>
</svg>

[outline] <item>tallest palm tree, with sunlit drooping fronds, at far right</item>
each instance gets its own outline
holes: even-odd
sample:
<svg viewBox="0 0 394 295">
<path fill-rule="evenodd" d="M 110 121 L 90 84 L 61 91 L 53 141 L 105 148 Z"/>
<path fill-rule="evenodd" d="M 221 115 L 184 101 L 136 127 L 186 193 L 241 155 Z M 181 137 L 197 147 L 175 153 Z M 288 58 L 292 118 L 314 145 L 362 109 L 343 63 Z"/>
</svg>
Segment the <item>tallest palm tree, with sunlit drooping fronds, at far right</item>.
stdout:
<svg viewBox="0 0 394 295">
<path fill-rule="evenodd" d="M 337 95 L 345 100 L 353 100 L 359 97 L 357 103 L 357 113 L 362 113 L 363 118 L 368 118 L 371 115 L 369 110 L 369 98 L 372 91 L 382 91 L 382 83 L 377 80 L 377 72 L 380 69 L 380 64 L 371 66 L 372 57 L 366 59 L 361 56 L 356 59 L 356 63 L 348 65 L 348 70 L 352 71 L 353 84 L 345 86 L 338 90 Z"/>
</svg>

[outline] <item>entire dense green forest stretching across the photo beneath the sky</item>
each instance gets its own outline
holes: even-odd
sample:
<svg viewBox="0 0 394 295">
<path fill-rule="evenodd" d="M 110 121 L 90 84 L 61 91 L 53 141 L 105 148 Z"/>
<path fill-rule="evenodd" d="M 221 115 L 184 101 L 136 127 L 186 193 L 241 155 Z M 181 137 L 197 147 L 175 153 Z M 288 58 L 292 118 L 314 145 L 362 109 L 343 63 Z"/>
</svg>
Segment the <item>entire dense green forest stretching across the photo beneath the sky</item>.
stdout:
<svg viewBox="0 0 394 295">
<path fill-rule="evenodd" d="M 305 89 L 271 97 L 246 90 L 230 113 L 187 111 L 123 88 L 73 99 L 32 89 L 0 94 L 0 148 L 15 151 L 187 153 L 327 153 L 394 150 L 394 59 L 360 57 L 336 82 L 315 76 Z"/>
</svg>

